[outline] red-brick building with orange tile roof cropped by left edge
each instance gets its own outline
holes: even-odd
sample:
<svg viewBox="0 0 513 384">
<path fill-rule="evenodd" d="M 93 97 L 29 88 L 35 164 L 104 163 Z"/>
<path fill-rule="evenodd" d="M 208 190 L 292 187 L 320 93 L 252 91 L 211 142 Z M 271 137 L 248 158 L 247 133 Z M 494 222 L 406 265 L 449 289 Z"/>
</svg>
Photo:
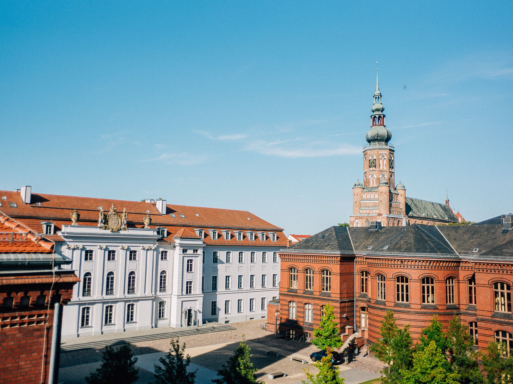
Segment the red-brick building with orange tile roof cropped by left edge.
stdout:
<svg viewBox="0 0 513 384">
<path fill-rule="evenodd" d="M 48 383 L 54 303 L 78 282 L 54 244 L 0 212 L 0 372 L 3 384 Z M 58 340 L 58 338 L 57 338 Z"/>
</svg>

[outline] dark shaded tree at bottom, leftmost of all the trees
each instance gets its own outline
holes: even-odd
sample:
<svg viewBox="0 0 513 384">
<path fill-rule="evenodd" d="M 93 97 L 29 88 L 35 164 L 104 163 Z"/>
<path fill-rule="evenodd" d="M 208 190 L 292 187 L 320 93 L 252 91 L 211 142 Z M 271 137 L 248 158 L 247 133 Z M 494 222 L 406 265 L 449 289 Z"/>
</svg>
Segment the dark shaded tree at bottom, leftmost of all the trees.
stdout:
<svg viewBox="0 0 513 384">
<path fill-rule="evenodd" d="M 105 347 L 102 365 L 86 377 L 88 384 L 133 384 L 139 378 L 139 368 L 134 365 L 137 357 L 128 344 L 118 349 Z"/>
</svg>

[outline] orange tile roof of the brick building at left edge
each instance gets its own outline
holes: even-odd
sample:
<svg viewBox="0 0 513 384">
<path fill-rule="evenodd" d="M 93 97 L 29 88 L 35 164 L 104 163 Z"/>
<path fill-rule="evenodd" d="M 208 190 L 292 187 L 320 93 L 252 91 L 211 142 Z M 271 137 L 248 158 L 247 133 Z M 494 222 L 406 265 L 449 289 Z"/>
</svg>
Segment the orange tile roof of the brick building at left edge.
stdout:
<svg viewBox="0 0 513 384">
<path fill-rule="evenodd" d="M 53 243 L 37 236 L 21 223 L 0 216 L 0 252 L 3 253 L 48 253 Z"/>
</svg>

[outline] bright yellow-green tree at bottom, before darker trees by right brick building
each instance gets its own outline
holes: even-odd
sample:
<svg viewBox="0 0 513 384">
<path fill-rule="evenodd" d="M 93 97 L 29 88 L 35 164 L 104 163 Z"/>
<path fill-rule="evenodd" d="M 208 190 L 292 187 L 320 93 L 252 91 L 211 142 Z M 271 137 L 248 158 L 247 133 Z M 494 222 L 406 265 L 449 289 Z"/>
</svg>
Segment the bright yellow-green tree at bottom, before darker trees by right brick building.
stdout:
<svg viewBox="0 0 513 384">
<path fill-rule="evenodd" d="M 447 359 L 435 340 L 413 353 L 413 368 L 402 369 L 401 384 L 458 384 L 460 375 L 446 369 Z"/>
</svg>

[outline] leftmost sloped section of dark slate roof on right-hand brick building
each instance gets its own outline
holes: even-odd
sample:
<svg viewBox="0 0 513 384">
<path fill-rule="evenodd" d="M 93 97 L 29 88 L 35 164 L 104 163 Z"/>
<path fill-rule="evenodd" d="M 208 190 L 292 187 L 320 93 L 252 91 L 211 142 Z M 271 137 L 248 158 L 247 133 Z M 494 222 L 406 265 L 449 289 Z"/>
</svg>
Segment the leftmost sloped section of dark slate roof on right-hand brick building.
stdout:
<svg viewBox="0 0 513 384">
<path fill-rule="evenodd" d="M 347 227 L 333 226 L 295 243 L 287 250 L 330 251 L 352 254 L 353 248 Z"/>
</svg>

